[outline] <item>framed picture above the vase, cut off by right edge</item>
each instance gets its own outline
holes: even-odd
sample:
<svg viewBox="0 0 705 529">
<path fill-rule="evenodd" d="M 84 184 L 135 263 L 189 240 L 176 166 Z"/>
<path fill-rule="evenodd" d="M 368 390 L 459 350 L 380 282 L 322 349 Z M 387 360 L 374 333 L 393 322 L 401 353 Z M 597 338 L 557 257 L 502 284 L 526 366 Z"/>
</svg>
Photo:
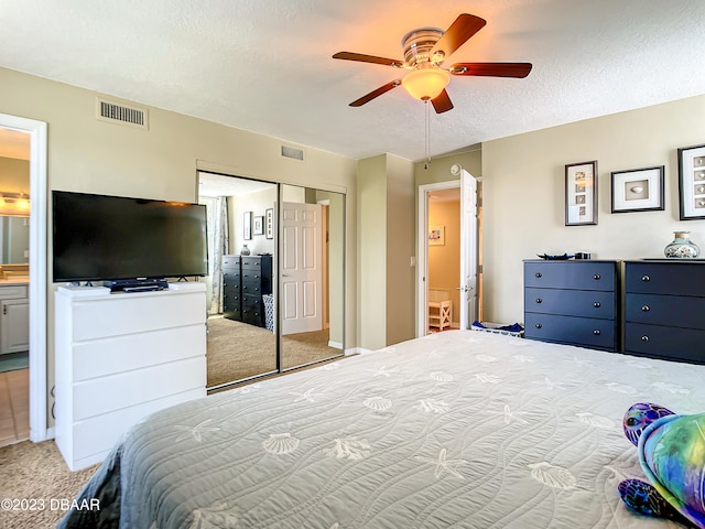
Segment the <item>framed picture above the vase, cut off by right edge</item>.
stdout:
<svg viewBox="0 0 705 529">
<path fill-rule="evenodd" d="M 705 145 L 679 149 L 681 220 L 705 218 Z"/>
</svg>

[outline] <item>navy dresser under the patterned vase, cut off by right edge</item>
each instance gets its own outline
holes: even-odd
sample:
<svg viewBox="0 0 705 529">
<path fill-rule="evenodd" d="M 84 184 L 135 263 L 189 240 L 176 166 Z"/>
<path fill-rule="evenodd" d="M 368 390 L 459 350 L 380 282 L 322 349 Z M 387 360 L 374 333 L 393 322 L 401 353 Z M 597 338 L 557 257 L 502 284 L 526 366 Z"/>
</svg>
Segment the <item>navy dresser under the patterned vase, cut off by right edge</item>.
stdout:
<svg viewBox="0 0 705 529">
<path fill-rule="evenodd" d="M 705 364 L 705 262 L 625 262 L 625 353 Z"/>
</svg>

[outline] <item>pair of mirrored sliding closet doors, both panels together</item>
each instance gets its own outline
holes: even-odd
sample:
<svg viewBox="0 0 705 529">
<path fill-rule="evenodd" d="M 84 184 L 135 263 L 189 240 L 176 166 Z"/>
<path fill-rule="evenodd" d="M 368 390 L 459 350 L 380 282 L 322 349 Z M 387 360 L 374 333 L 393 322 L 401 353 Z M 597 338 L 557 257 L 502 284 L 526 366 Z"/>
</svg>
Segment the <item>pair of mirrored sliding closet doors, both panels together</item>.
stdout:
<svg viewBox="0 0 705 529">
<path fill-rule="evenodd" d="M 345 195 L 199 173 L 209 390 L 344 354 Z"/>
</svg>

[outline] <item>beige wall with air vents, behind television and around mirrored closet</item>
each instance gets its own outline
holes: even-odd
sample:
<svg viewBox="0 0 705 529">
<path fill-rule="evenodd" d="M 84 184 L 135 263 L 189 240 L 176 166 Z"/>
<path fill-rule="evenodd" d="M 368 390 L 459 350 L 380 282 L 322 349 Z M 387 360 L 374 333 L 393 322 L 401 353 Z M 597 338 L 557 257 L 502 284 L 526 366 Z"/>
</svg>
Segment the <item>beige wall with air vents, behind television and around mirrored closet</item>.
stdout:
<svg viewBox="0 0 705 529">
<path fill-rule="evenodd" d="M 149 108 L 149 131 L 107 123 L 95 118 L 95 101 L 90 90 L 0 68 L 0 112 L 48 123 L 50 191 L 194 202 L 196 172 L 202 169 L 347 193 L 346 290 L 356 291 L 355 160 L 306 147 L 304 162 L 285 159 L 280 155 L 280 140 L 159 108 Z M 51 274 L 51 255 L 48 270 Z M 53 290 L 50 278 L 50 387 L 54 379 Z M 356 300 L 346 298 L 347 314 L 358 312 Z M 356 321 L 349 317 L 346 345 L 354 347 L 356 341 Z"/>
</svg>

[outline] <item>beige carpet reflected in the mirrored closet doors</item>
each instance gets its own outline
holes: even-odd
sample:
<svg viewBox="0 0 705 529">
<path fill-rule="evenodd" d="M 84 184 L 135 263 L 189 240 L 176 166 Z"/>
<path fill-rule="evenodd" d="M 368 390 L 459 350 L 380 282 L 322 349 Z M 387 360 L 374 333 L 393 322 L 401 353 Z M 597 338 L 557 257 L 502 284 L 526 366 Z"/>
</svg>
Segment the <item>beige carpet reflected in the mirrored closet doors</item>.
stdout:
<svg viewBox="0 0 705 529">
<path fill-rule="evenodd" d="M 282 337 L 282 369 L 341 355 L 328 346 L 328 331 Z M 276 336 L 271 331 L 223 316 L 208 319 L 208 387 L 276 370 Z"/>
</svg>

